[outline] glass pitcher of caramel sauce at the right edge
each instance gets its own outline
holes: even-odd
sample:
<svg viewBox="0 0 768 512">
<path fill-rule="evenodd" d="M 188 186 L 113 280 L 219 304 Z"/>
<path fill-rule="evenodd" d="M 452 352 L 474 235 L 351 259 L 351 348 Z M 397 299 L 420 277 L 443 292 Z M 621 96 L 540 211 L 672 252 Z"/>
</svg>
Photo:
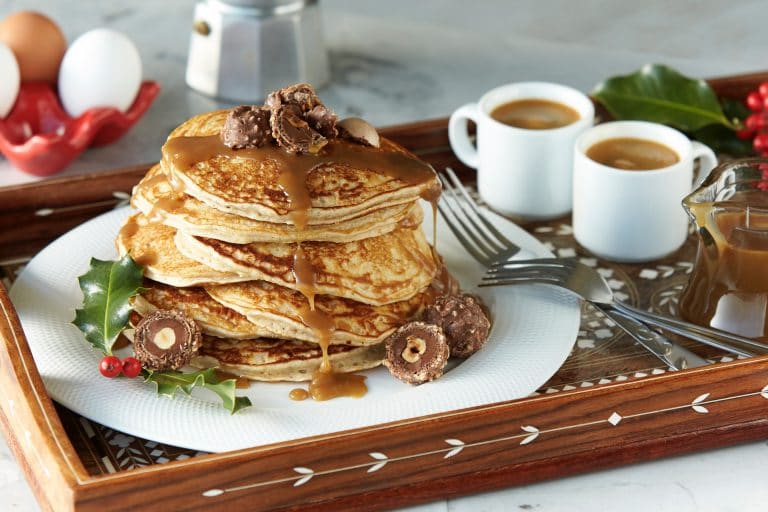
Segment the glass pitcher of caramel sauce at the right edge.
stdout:
<svg viewBox="0 0 768 512">
<path fill-rule="evenodd" d="M 702 241 L 680 314 L 691 322 L 768 340 L 768 209 L 695 204 Z"/>
</svg>

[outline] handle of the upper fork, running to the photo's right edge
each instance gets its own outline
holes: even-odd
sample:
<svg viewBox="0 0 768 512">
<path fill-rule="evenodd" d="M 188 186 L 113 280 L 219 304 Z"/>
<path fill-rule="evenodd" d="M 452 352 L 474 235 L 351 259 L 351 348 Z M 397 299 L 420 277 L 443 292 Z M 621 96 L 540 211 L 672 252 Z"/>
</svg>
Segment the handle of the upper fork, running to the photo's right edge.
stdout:
<svg viewBox="0 0 768 512">
<path fill-rule="evenodd" d="M 768 345 L 737 336 L 718 329 L 702 327 L 677 318 L 670 318 L 664 315 L 651 313 L 642 309 L 635 308 L 623 302 L 615 301 L 613 307 L 627 315 L 630 315 L 642 322 L 645 322 L 669 332 L 685 336 L 699 343 L 704 343 L 721 350 L 726 350 L 746 357 L 754 355 L 768 354 Z"/>
</svg>

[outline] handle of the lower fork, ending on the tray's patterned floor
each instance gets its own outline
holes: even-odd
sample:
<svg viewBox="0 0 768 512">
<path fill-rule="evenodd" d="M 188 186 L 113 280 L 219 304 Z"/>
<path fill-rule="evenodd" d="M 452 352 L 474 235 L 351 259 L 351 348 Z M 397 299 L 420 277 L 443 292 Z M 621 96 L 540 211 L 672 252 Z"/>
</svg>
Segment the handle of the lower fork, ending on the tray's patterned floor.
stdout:
<svg viewBox="0 0 768 512">
<path fill-rule="evenodd" d="M 624 329 L 635 341 L 673 370 L 684 370 L 710 364 L 706 359 L 697 356 L 690 350 L 650 329 L 637 318 L 629 316 L 612 306 L 595 303 L 592 303 L 592 305 L 602 311 L 605 316 Z"/>
</svg>

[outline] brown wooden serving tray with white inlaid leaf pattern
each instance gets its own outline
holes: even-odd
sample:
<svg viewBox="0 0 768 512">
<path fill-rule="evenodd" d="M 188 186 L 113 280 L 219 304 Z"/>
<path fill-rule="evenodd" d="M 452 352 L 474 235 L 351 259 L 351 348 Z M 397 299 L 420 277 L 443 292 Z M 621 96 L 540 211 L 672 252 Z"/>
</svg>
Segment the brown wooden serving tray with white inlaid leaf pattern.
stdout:
<svg viewBox="0 0 768 512">
<path fill-rule="evenodd" d="M 710 83 L 743 98 L 768 73 Z M 471 173 L 446 120 L 382 133 L 436 168 Z M 0 189 L 0 277 L 56 236 L 123 204 L 147 166 Z M 693 245 L 651 265 L 600 261 L 570 219 L 526 226 L 579 255 L 627 300 L 674 314 Z M 0 424 L 43 509 L 382 509 L 768 437 L 768 357 L 687 345 L 715 364 L 670 373 L 591 308 L 566 363 L 534 396 L 219 454 L 115 432 L 46 394 L 0 286 Z M 127 462 L 126 462 L 127 461 Z"/>
</svg>

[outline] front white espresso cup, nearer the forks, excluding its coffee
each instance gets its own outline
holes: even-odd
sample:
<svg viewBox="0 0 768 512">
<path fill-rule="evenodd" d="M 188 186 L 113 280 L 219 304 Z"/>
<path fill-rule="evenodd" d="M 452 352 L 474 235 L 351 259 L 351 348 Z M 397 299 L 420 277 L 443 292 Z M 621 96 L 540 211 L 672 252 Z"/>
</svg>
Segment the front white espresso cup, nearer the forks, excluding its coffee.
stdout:
<svg viewBox="0 0 768 512">
<path fill-rule="evenodd" d="M 625 170 L 587 156 L 593 145 L 616 138 L 652 141 L 677 154 L 678 161 L 653 170 Z M 694 161 L 700 160 L 694 179 Z M 688 235 L 683 198 L 717 165 L 704 144 L 679 131 L 644 121 L 595 126 L 576 141 L 573 162 L 573 234 L 595 255 L 641 262 L 676 251 Z"/>
</svg>

